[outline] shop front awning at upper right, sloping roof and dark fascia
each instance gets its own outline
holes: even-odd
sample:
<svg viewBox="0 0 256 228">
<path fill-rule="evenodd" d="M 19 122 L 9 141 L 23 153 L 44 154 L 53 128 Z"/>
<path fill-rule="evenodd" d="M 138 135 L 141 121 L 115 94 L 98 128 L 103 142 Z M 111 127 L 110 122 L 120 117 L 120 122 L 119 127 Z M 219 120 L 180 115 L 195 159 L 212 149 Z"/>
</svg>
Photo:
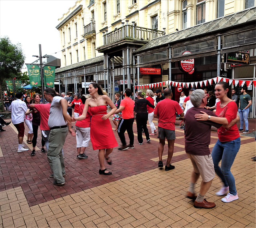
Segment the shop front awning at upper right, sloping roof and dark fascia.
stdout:
<svg viewBox="0 0 256 228">
<path fill-rule="evenodd" d="M 222 18 L 198 24 L 162 37 L 155 38 L 134 52 L 143 64 L 143 55 L 171 48 L 171 61 L 185 60 L 217 54 L 218 36 L 220 53 L 256 48 L 256 7 L 242 10 Z M 184 51 L 191 54 L 182 55 Z M 168 58 L 161 58 L 161 61 Z M 153 59 L 153 62 L 159 62 Z M 146 63 L 146 62 L 145 62 Z"/>
</svg>

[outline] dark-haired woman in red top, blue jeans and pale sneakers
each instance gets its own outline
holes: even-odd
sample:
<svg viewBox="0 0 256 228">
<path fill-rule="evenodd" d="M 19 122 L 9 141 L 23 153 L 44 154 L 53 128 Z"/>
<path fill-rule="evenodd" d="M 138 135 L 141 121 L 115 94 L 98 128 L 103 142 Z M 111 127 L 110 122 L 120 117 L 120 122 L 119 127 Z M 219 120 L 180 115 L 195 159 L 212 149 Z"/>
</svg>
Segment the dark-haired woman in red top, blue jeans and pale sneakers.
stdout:
<svg viewBox="0 0 256 228">
<path fill-rule="evenodd" d="M 215 96 L 220 99 L 216 104 L 215 114 L 219 117 L 208 116 L 204 114 L 196 114 L 197 120 L 211 120 L 219 124 L 230 124 L 234 119 L 237 121 L 237 105 L 236 102 L 231 100 L 231 88 L 226 82 L 219 82 L 215 86 Z M 236 121 L 236 122 L 237 122 Z M 231 124 L 232 125 L 232 124 Z M 240 135 L 236 124 L 229 128 L 222 126 L 218 129 L 218 141 L 212 149 L 212 160 L 214 163 L 214 170 L 223 182 L 223 187 L 220 191 L 216 192 L 217 196 L 222 196 L 229 193 L 222 198 L 222 202 L 232 202 L 238 199 L 236 192 L 235 179 L 230 168 L 236 158 L 236 154 L 240 148 Z M 221 168 L 218 166 L 221 160 Z"/>
</svg>

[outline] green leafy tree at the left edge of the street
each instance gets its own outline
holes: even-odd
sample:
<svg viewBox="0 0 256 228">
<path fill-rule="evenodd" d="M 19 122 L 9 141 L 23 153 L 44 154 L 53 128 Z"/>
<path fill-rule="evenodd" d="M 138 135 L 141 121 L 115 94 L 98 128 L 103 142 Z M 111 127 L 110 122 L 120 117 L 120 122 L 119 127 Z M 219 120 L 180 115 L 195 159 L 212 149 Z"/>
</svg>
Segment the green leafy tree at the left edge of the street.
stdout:
<svg viewBox="0 0 256 228">
<path fill-rule="evenodd" d="M 3 110 L 2 84 L 5 79 L 11 80 L 21 72 L 24 61 L 25 55 L 20 44 L 12 44 L 7 36 L 0 38 L 0 96 Z"/>
</svg>

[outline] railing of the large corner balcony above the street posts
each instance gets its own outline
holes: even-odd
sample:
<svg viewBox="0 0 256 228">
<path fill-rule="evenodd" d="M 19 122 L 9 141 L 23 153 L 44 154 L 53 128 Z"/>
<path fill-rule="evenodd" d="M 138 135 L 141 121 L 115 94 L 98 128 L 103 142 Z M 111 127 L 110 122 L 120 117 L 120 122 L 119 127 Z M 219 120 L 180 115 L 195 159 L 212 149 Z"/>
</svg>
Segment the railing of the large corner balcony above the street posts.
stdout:
<svg viewBox="0 0 256 228">
<path fill-rule="evenodd" d="M 135 25 L 135 22 L 132 22 L 132 25 L 128 25 L 128 21 L 126 20 L 126 25 L 122 22 L 121 28 L 116 28 L 112 32 L 108 32 L 106 30 L 103 33 L 103 45 L 111 44 L 113 42 L 123 40 L 125 38 L 131 38 L 136 40 L 152 40 L 154 38 L 163 36 L 165 34 L 164 31 L 153 30 L 150 28 L 142 28 Z"/>
</svg>

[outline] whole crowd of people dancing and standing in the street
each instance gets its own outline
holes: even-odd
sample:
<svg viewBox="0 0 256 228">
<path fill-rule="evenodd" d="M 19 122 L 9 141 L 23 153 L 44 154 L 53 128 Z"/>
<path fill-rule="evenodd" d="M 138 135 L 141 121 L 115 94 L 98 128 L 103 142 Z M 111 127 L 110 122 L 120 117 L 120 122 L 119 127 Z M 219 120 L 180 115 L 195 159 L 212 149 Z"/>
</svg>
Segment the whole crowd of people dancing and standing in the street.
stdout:
<svg viewBox="0 0 256 228">
<path fill-rule="evenodd" d="M 243 133 L 248 133 L 247 117 L 252 102 L 246 91 L 247 88 L 242 88 L 238 109 L 236 103 L 238 97 L 226 82 L 217 83 L 214 92 L 210 91 L 209 94 L 207 89 L 191 89 L 188 96 L 185 96 L 185 92 L 182 91 L 179 102 L 172 100 L 173 94 L 170 88 L 157 89 L 155 92 L 149 89 L 146 92 L 136 91 L 135 95 L 129 88 L 126 88 L 124 92 L 116 93 L 115 101 L 112 102 L 99 84 L 91 83 L 88 87 L 89 94 L 80 96 L 79 93 L 75 93 L 74 100 L 70 97 L 69 92 L 60 95 L 53 88 L 46 88 L 44 98 L 48 102 L 47 104 L 40 103 L 39 94 L 34 94 L 33 98 L 30 96 L 24 98 L 22 93 L 17 93 L 17 100 L 12 101 L 8 110 L 12 112 L 12 123 L 18 130 L 17 152 L 28 150 L 22 145 L 25 122 L 29 129 L 27 143 L 33 144 L 30 155 L 36 154 L 35 147 L 40 126 L 41 152 L 47 152 L 52 171 L 50 177 L 54 178 L 53 184 L 55 185 L 65 184 L 66 172 L 62 147 L 68 132 L 72 136 L 76 136 L 76 158 L 88 158 L 85 151 L 91 141 L 93 150 L 98 150 L 99 174 L 112 174 L 104 163 L 106 160 L 107 164 L 112 164 L 110 155 L 113 148 L 118 146 L 109 120 L 110 117 L 115 125 L 114 130 L 117 131 L 121 141 L 118 150 L 134 149 L 133 123 L 136 116 L 138 145 L 143 145 L 143 132 L 147 143 L 151 142 L 150 136 L 157 134 L 159 139 L 158 168 L 162 169 L 164 168 L 162 156 L 167 140 L 168 157 L 165 170 L 174 169 L 175 166 L 171 164 L 171 161 L 176 139 L 175 121 L 177 116 L 184 116 L 185 151 L 193 165 L 186 196 L 194 200 L 196 208 L 213 208 L 215 204 L 208 202 L 204 196 L 211 186 L 215 173 L 222 180 L 223 185 L 216 195 L 226 195 L 221 199 L 223 202 L 232 202 L 238 199 L 235 179 L 230 168 L 240 148 L 239 131 L 243 131 L 244 124 L 245 131 Z M 72 106 L 74 107 L 74 117 L 72 117 Z M 111 108 L 109 112 L 107 112 L 107 106 Z M 237 112 L 239 112 L 239 116 Z M 158 119 L 157 130 L 153 118 Z M 239 120 L 240 129 L 238 130 L 236 122 Z M 75 132 L 71 126 L 71 122 L 74 121 L 76 122 Z M 147 121 L 151 133 L 147 128 Z M 209 149 L 211 126 L 218 128 L 218 141 L 212 153 Z M 126 142 L 126 131 L 129 143 Z M 46 146 L 46 150 L 44 146 Z M 220 161 L 221 167 L 219 167 Z M 200 175 L 202 182 L 196 196 L 194 186 Z"/>
</svg>

